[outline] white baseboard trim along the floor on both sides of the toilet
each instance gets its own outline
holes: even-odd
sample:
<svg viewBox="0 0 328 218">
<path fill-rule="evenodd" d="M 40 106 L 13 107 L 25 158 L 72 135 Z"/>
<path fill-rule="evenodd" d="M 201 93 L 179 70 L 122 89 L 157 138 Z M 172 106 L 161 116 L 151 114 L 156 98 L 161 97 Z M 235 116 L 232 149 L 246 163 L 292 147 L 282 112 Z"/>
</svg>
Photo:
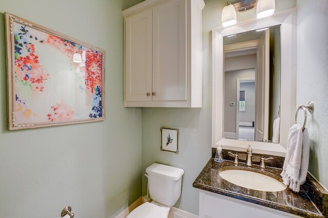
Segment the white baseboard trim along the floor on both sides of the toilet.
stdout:
<svg viewBox="0 0 328 218">
<path fill-rule="evenodd" d="M 144 197 L 139 197 L 135 202 L 133 202 L 128 208 L 120 212 L 115 218 L 126 218 L 128 214 L 142 204 Z M 168 218 L 198 218 L 197 215 L 180 210 L 178 208 L 172 207 Z"/>
</svg>

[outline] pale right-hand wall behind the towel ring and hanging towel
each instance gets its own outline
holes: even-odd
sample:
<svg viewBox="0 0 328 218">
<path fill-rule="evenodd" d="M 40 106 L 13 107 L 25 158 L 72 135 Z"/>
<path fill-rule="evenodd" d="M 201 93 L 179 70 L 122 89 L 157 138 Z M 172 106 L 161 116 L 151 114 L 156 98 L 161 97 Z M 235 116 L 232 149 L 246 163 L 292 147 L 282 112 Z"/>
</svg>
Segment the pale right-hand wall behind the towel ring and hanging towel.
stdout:
<svg viewBox="0 0 328 218">
<path fill-rule="evenodd" d="M 309 171 L 328 188 L 328 1 L 298 0 L 297 6 L 297 105 L 314 102 L 306 124 Z"/>
</svg>

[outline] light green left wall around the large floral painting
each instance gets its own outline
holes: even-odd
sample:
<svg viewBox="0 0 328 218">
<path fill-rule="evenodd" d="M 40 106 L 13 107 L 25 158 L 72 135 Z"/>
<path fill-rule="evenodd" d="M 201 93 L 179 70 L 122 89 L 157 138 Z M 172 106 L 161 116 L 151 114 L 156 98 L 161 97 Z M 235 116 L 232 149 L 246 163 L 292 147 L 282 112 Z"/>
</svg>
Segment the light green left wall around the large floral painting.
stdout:
<svg viewBox="0 0 328 218">
<path fill-rule="evenodd" d="M 108 218 L 141 195 L 141 109 L 123 104 L 123 17 L 140 0 L 0 0 L 0 217 Z M 7 11 L 106 50 L 106 121 L 7 131 Z"/>
</svg>

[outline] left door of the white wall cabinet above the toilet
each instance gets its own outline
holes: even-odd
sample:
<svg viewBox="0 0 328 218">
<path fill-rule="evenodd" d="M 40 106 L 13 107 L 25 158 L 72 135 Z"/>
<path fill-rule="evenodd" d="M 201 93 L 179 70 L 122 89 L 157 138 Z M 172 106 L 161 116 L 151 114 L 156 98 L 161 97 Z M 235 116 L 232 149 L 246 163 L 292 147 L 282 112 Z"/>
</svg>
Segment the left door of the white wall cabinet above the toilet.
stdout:
<svg viewBox="0 0 328 218">
<path fill-rule="evenodd" d="M 152 99 L 152 10 L 126 18 L 126 101 Z M 149 93 L 147 95 L 147 93 Z"/>
</svg>

